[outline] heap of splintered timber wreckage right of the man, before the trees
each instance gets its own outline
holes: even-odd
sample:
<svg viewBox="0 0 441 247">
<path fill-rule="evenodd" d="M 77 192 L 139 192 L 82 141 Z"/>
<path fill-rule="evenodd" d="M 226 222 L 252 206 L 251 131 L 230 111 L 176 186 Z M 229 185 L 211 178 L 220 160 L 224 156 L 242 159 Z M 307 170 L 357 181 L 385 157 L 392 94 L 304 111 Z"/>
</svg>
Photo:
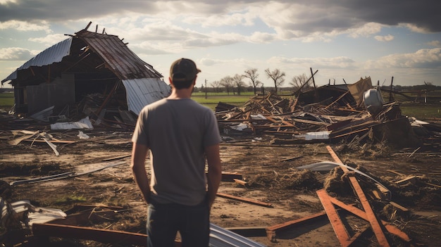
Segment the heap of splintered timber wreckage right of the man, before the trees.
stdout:
<svg viewBox="0 0 441 247">
<path fill-rule="evenodd" d="M 369 77 L 345 87 L 318 87 L 295 98 L 270 93 L 254 96 L 242 107 L 219 103 L 216 117 L 223 134 L 267 134 L 275 137 L 273 144 L 347 140 L 387 141 L 398 148 L 421 145 L 399 103 L 384 103 Z"/>
</svg>

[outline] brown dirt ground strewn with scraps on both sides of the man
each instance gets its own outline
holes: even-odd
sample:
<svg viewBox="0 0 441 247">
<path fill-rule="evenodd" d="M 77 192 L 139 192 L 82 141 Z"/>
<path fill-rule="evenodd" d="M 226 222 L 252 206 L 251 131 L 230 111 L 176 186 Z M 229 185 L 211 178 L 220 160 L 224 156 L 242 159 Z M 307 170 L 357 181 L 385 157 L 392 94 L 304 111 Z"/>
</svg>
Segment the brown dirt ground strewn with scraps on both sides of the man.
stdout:
<svg viewBox="0 0 441 247">
<path fill-rule="evenodd" d="M 8 125 L 9 126 L 9 125 Z M 23 129 L 23 127 L 18 127 Z M 145 233 L 146 208 L 135 187 L 129 169 L 131 131 L 124 129 L 81 130 L 88 139 L 77 137 L 78 130 L 50 130 L 47 126 L 27 127 L 51 134 L 53 139 L 73 141 L 56 143 L 59 156 L 44 142 L 21 141 L 12 146 L 12 129 L 0 130 L 0 196 L 8 202 L 29 199 L 33 205 L 69 210 L 73 205 L 101 204 L 121 206 L 117 217 L 91 222 L 90 227 Z M 16 137 L 15 137 L 16 138 Z M 439 141 L 425 141 L 416 148 L 393 149 L 389 146 L 356 146 L 339 144 L 271 144 L 273 137 L 228 137 L 221 144 L 223 172 L 236 172 L 245 185 L 224 181 L 219 192 L 249 198 L 272 207 L 254 205 L 218 197 L 211 210 L 211 222 L 227 229 L 264 229 L 323 211 L 316 191 L 323 189 L 332 172 L 297 170 L 300 165 L 333 161 L 326 146 L 331 146 L 345 163 L 359 167 L 387 186 L 392 201 L 410 210 L 404 213 L 391 208 L 387 201 L 370 199 L 375 214 L 409 235 L 413 246 L 440 246 L 441 243 L 441 153 Z M 119 165 L 106 167 L 123 161 Z M 61 172 L 86 173 L 51 182 L 9 183 L 54 175 Z M 335 171 L 333 171 L 335 172 Z M 395 182 L 408 175 L 417 176 L 412 183 Z M 348 204 L 359 205 L 348 184 L 336 179 L 328 193 Z M 339 182 L 340 181 L 340 182 Z M 328 181 L 329 182 L 329 181 Z M 340 186 L 338 186 L 340 184 Z M 365 191 L 371 191 L 372 182 L 361 182 Z M 366 193 L 368 194 L 368 193 Z M 342 216 L 356 233 L 366 227 L 364 220 L 349 214 Z M 249 239 L 266 246 L 340 246 L 327 217 L 311 224 L 303 224 L 278 232 L 273 241 L 262 234 L 248 234 Z M 254 236 L 252 236 L 254 235 Z M 386 234 L 391 246 L 410 246 L 392 234 Z M 31 242 L 30 242 L 31 243 Z M 27 244 L 27 246 L 30 245 Z M 26 246 L 26 245 L 25 245 Z M 78 239 L 51 239 L 51 246 L 125 246 Z M 378 246 L 375 235 L 367 231 L 355 246 Z"/>
</svg>

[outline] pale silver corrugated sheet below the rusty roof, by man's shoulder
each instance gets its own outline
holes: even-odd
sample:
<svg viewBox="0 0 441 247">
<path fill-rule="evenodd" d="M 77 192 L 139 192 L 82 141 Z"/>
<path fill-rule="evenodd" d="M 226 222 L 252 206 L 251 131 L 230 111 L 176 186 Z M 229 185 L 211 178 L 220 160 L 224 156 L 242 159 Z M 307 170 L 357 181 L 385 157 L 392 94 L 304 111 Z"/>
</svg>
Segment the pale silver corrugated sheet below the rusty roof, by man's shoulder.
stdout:
<svg viewBox="0 0 441 247">
<path fill-rule="evenodd" d="M 170 94 L 170 86 L 159 78 L 123 80 L 129 110 L 136 115 L 149 103 Z"/>
</svg>

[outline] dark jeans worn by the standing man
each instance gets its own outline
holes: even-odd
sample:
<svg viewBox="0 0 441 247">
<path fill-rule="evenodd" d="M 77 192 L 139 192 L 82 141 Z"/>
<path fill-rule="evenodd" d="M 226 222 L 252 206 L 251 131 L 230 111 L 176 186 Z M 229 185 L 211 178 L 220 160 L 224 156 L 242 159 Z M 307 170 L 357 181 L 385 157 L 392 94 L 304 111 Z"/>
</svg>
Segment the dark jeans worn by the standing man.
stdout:
<svg viewBox="0 0 441 247">
<path fill-rule="evenodd" d="M 150 203 L 147 213 L 147 246 L 174 247 L 180 232 L 182 247 L 207 247 L 210 240 L 210 210 L 206 201 L 187 206 Z"/>
</svg>

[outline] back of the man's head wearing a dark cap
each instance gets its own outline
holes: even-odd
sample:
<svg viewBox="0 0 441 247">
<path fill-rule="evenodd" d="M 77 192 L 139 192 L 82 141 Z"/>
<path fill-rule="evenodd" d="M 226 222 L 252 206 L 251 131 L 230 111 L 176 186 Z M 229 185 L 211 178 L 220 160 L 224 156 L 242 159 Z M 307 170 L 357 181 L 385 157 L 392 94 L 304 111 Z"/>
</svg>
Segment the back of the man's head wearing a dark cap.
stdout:
<svg viewBox="0 0 441 247">
<path fill-rule="evenodd" d="M 201 72 L 196 63 L 188 58 L 180 58 L 170 66 L 170 79 L 176 89 L 189 88 L 197 73 Z"/>
</svg>

